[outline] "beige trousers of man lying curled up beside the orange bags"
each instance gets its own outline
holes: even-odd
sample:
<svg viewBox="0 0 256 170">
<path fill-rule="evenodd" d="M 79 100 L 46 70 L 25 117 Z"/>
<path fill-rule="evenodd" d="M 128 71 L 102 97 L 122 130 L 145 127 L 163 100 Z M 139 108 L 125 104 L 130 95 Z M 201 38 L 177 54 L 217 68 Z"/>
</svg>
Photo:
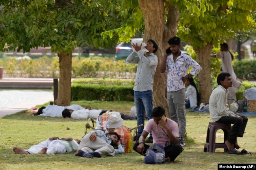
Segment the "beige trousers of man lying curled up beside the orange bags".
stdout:
<svg viewBox="0 0 256 170">
<path fill-rule="evenodd" d="M 86 134 L 83 136 L 78 146 L 78 150 L 82 149 L 86 153 L 99 152 L 101 155 L 108 156 L 115 155 L 113 146 L 100 139 L 100 137 L 96 137 L 95 141 L 91 142 L 89 139 L 90 135 L 91 134 Z"/>
</svg>

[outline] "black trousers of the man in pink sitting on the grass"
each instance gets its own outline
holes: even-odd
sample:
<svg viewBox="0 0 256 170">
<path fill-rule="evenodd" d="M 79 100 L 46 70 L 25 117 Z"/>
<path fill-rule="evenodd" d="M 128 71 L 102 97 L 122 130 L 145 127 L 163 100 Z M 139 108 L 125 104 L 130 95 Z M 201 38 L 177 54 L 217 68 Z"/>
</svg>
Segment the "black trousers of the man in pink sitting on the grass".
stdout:
<svg viewBox="0 0 256 170">
<path fill-rule="evenodd" d="M 137 146 L 139 145 L 139 142 L 136 142 L 134 144 L 134 150 L 137 152 Z M 150 145 L 144 144 L 145 150 L 143 153 L 138 152 L 139 154 L 145 156 L 147 149 L 149 148 Z M 167 147 L 164 147 L 165 149 L 165 158 L 169 157 L 171 161 L 174 161 L 176 159 L 176 157 L 178 157 L 178 155 L 180 155 L 180 153 L 183 151 L 182 146 L 180 146 L 179 144 L 174 144 L 174 145 L 170 145 Z"/>
</svg>

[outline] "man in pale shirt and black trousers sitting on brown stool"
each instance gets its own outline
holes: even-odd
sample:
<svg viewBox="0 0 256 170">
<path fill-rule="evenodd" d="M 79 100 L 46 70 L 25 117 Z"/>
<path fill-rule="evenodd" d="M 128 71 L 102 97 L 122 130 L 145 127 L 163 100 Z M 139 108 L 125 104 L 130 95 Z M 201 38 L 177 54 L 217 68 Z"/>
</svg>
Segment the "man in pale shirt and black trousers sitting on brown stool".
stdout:
<svg viewBox="0 0 256 170">
<path fill-rule="evenodd" d="M 217 77 L 217 84 L 210 96 L 209 109 L 213 122 L 234 124 L 225 144 L 230 154 L 236 154 L 240 146 L 237 144 L 237 137 L 243 137 L 247 124 L 247 117 L 239 116 L 231 112 L 228 108 L 228 88 L 232 87 L 232 79 L 230 73 L 221 73 Z"/>
</svg>

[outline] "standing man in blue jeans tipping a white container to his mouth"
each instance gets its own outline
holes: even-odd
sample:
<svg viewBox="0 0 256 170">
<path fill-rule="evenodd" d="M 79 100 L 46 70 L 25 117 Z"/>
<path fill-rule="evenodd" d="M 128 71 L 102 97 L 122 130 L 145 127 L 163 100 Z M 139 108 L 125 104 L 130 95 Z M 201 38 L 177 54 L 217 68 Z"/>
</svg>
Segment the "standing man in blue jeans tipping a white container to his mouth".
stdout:
<svg viewBox="0 0 256 170">
<path fill-rule="evenodd" d="M 158 57 L 154 53 L 158 50 L 158 45 L 154 40 L 148 40 L 147 46 L 145 47 L 148 51 L 146 53 L 145 50 L 141 48 L 142 44 L 133 43 L 132 47 L 135 51 L 126 58 L 126 62 L 138 64 L 133 90 L 137 113 L 137 126 L 139 126 L 145 123 L 145 112 L 148 120 L 152 119 L 150 114 L 153 110 L 153 81 L 158 64 Z M 138 128 L 137 137 L 135 136 L 135 138 L 139 138 L 143 132 L 143 128 L 144 126 Z M 134 141 L 135 140 L 136 139 L 134 139 Z M 146 142 L 153 142 L 151 133 Z"/>
</svg>

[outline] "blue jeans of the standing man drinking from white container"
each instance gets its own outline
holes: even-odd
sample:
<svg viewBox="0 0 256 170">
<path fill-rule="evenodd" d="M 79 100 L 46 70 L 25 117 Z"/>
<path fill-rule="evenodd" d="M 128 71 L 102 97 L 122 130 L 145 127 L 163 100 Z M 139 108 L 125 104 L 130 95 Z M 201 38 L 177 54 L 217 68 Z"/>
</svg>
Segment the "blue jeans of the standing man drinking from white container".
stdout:
<svg viewBox="0 0 256 170">
<path fill-rule="evenodd" d="M 134 91 L 134 102 L 137 113 L 137 126 L 145 123 L 145 115 L 148 117 L 148 120 L 152 119 L 151 112 L 153 110 L 153 91 Z M 138 128 L 137 135 L 140 136 L 143 132 L 144 126 Z M 150 132 L 150 136 L 152 133 Z"/>
</svg>

